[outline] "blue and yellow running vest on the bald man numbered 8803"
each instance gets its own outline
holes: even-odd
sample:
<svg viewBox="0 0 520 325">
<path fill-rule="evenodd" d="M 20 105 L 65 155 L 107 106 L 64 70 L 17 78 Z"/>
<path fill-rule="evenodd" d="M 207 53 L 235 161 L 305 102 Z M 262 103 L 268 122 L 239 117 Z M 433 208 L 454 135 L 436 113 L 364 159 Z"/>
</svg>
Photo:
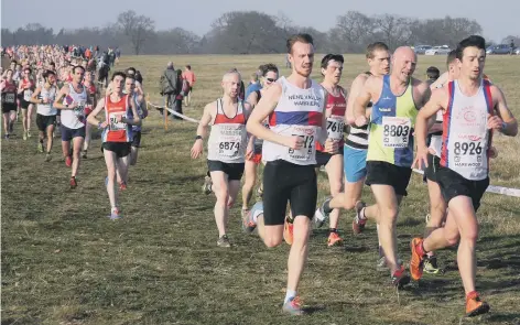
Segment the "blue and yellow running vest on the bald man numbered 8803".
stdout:
<svg viewBox="0 0 520 325">
<path fill-rule="evenodd" d="M 418 108 L 413 101 L 412 78 L 401 96 L 393 95 L 390 76 L 383 76 L 381 96 L 373 104 L 367 161 L 383 161 L 411 167 L 413 162 L 413 127 Z"/>
</svg>

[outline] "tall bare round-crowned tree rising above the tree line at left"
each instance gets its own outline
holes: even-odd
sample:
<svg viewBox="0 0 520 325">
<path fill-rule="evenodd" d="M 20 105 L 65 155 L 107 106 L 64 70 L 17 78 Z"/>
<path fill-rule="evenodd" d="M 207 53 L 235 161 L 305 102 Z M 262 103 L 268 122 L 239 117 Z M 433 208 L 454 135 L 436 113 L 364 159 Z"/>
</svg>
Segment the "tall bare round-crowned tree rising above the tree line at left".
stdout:
<svg viewBox="0 0 520 325">
<path fill-rule="evenodd" d="M 139 55 L 147 39 L 155 31 L 155 22 L 151 18 L 138 15 L 133 10 L 121 12 L 118 17 L 118 25 L 130 39 L 136 55 Z"/>
</svg>

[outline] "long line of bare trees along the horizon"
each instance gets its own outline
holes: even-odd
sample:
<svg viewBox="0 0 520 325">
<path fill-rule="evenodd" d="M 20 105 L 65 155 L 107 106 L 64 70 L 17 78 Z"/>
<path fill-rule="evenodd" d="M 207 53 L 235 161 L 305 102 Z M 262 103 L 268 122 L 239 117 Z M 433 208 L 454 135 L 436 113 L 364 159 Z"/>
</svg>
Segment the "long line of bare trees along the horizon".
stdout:
<svg viewBox="0 0 520 325">
<path fill-rule="evenodd" d="M 299 26 L 284 14 L 259 11 L 231 11 L 212 23 L 205 35 L 182 28 L 156 30 L 155 22 L 133 10 L 121 12 L 117 21 L 104 28 L 53 29 L 30 23 L 15 31 L 2 29 L 2 46 L 21 44 L 78 44 L 119 47 L 126 54 L 266 54 L 285 53 L 289 35 L 310 33 L 317 52 L 362 53 L 367 44 L 382 41 L 391 48 L 400 45 L 449 45 L 470 34 L 481 34 L 476 20 L 467 18 L 419 20 L 394 14 L 366 15 L 348 11 L 336 18 L 326 31 Z M 503 43 L 519 36 L 508 35 Z M 491 44 L 491 42 L 490 42 Z"/>
</svg>

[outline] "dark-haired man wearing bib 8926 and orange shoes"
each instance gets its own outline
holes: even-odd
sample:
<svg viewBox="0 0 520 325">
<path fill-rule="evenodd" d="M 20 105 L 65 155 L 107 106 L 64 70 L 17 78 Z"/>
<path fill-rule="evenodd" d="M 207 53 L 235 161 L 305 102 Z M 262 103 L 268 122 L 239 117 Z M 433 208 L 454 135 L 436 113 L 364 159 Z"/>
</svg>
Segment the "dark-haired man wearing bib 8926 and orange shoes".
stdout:
<svg viewBox="0 0 520 325">
<path fill-rule="evenodd" d="M 458 270 L 466 293 L 466 316 L 489 311 L 489 305 L 476 292 L 475 247 L 478 238 L 476 212 L 489 185 L 489 148 L 492 132 L 514 137 L 518 123 L 506 98 L 495 85 L 483 80 L 486 45 L 481 36 L 463 40 L 456 51 L 461 67 L 457 80 L 433 93 L 431 100 L 416 119 L 418 154 L 414 164 L 429 165 L 426 147 L 427 119 L 443 111 L 441 161 L 435 173 L 449 210 L 443 228 L 425 239 L 410 243 L 410 272 L 414 280 L 422 277 L 422 263 L 429 251 L 454 246 Z M 497 113 L 497 115 L 495 115 Z"/>
</svg>

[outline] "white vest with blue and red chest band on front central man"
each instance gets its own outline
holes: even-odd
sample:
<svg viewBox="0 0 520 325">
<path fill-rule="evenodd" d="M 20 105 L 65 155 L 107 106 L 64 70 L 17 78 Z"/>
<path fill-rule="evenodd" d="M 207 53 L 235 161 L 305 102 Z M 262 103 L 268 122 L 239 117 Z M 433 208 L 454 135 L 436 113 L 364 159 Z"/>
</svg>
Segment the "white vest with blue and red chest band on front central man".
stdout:
<svg viewBox="0 0 520 325">
<path fill-rule="evenodd" d="M 277 83 L 282 86 L 282 95 L 277 107 L 269 116 L 270 129 L 281 136 L 301 137 L 303 148 L 293 150 L 264 140 L 263 160 L 284 160 L 297 165 L 315 165 L 315 142 L 318 132 L 322 130 L 325 90 L 314 80 L 311 80 L 311 87 L 307 89 L 292 85 L 285 77 L 281 77 Z"/>
</svg>

